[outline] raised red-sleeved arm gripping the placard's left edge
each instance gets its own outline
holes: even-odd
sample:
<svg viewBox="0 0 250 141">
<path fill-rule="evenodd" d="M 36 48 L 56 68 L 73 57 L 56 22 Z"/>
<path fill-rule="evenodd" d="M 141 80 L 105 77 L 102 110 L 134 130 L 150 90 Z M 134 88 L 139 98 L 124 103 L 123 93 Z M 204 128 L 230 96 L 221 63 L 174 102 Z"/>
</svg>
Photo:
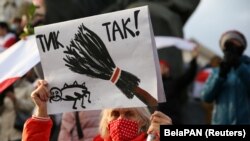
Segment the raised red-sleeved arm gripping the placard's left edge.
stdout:
<svg viewBox="0 0 250 141">
<path fill-rule="evenodd" d="M 52 120 L 48 116 L 46 102 L 49 98 L 48 84 L 39 80 L 36 89 L 31 93 L 31 98 L 36 105 L 36 111 L 24 125 L 22 141 L 49 141 Z"/>
</svg>

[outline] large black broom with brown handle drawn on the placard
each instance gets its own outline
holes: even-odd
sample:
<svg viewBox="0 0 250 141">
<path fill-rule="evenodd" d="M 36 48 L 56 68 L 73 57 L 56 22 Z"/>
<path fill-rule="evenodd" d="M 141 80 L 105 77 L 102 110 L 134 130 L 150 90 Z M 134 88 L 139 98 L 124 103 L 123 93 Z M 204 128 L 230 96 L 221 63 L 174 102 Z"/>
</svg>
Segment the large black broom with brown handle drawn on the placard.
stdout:
<svg viewBox="0 0 250 141">
<path fill-rule="evenodd" d="M 66 57 L 63 60 L 71 71 L 110 80 L 127 98 L 132 99 L 135 95 L 148 106 L 157 105 L 157 100 L 138 86 L 139 78 L 118 68 L 100 37 L 84 24 L 78 27 L 78 32 L 64 53 Z"/>
</svg>

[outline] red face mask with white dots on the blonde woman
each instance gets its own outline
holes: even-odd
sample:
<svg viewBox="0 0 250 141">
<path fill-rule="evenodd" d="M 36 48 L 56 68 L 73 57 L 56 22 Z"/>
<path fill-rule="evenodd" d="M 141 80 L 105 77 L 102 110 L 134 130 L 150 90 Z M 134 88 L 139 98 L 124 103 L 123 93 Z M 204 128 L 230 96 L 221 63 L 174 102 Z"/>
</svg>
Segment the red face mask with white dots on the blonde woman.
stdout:
<svg viewBox="0 0 250 141">
<path fill-rule="evenodd" d="M 117 119 L 110 121 L 108 128 L 113 141 L 131 141 L 137 137 L 139 125 L 136 121 Z"/>
</svg>

